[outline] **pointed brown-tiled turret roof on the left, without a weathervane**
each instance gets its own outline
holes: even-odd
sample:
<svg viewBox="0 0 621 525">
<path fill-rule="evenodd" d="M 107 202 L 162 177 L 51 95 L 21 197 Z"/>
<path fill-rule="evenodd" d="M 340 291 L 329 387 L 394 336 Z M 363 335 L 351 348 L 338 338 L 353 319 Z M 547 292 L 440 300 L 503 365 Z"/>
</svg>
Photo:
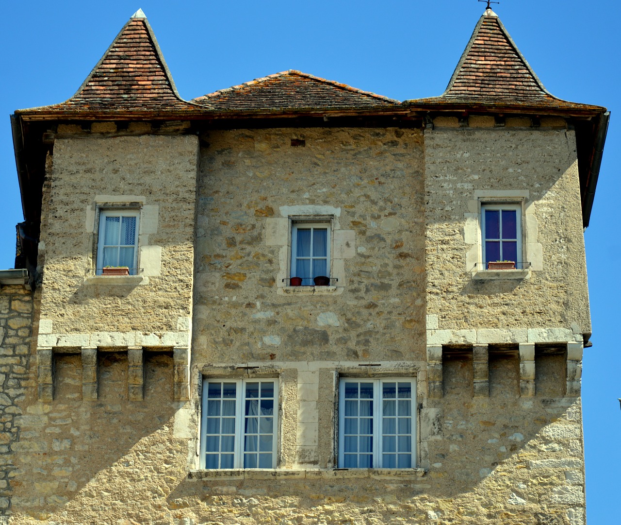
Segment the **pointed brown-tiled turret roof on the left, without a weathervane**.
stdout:
<svg viewBox="0 0 621 525">
<path fill-rule="evenodd" d="M 142 10 L 120 30 L 75 95 L 63 103 L 34 109 L 65 114 L 202 110 L 177 93 Z"/>
</svg>

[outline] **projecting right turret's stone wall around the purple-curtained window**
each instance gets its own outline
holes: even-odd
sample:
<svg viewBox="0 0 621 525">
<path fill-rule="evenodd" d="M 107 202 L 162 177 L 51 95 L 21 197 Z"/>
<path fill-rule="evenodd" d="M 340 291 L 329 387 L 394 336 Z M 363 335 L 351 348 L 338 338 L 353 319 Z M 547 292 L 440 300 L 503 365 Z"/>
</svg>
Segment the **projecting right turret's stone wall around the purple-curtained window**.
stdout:
<svg viewBox="0 0 621 525">
<path fill-rule="evenodd" d="M 491 339 L 464 332 L 462 341 L 453 341 L 481 343 L 567 341 L 590 334 L 574 132 L 558 119 L 519 129 L 514 126 L 530 126 L 530 120 L 507 119 L 496 128 L 491 120 L 471 117 L 471 127 L 460 129 L 457 119 L 437 119 L 439 125 L 425 131 L 430 329 L 505 330 Z M 474 275 L 481 264 L 478 203 L 503 200 L 522 204 L 528 275 L 480 280 Z"/>
</svg>

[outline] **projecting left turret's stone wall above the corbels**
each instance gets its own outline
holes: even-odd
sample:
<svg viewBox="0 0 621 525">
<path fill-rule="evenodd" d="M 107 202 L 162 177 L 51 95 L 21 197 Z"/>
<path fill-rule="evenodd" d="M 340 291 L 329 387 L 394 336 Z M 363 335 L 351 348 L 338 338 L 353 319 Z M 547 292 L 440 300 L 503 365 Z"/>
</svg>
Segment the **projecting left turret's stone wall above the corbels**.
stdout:
<svg viewBox="0 0 621 525">
<path fill-rule="evenodd" d="M 43 196 L 40 346 L 187 346 L 197 138 L 80 131 L 59 127 Z M 138 272 L 97 276 L 97 217 L 118 207 L 140 212 Z"/>
</svg>

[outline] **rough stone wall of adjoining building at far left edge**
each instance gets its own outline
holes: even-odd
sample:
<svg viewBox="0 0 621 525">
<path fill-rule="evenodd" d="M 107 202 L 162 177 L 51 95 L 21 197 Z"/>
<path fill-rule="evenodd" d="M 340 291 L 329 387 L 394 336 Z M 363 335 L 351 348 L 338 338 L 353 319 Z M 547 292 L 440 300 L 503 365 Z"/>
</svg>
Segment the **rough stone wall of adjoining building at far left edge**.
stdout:
<svg viewBox="0 0 621 525">
<path fill-rule="evenodd" d="M 0 523 L 12 513 L 12 491 L 22 481 L 16 454 L 24 437 L 24 397 L 36 385 L 30 366 L 33 294 L 24 286 L 0 286 Z"/>
</svg>

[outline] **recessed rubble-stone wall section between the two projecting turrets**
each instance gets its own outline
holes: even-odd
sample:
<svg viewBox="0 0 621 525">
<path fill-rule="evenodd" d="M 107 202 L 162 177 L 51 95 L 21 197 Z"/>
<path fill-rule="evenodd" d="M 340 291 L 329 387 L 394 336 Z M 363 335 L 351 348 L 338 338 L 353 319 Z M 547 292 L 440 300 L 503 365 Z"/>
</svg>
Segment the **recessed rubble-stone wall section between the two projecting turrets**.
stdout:
<svg viewBox="0 0 621 525">
<path fill-rule="evenodd" d="M 194 362 L 424 358 L 420 130 L 230 130 L 201 143 Z M 329 291 L 284 290 L 290 221 L 304 216 L 332 221 Z"/>
</svg>

